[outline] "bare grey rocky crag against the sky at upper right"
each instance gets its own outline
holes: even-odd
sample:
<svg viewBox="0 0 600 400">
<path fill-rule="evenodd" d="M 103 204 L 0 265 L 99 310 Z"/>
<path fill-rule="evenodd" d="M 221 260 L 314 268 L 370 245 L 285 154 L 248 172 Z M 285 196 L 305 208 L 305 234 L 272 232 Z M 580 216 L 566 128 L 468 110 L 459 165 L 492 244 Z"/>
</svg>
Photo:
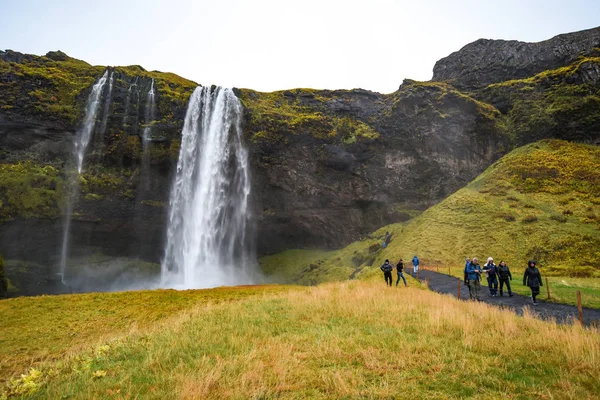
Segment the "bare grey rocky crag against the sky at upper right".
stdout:
<svg viewBox="0 0 600 400">
<path fill-rule="evenodd" d="M 570 64 L 599 47 L 600 27 L 538 43 L 479 39 L 436 62 L 432 80 L 474 90 Z"/>
</svg>

